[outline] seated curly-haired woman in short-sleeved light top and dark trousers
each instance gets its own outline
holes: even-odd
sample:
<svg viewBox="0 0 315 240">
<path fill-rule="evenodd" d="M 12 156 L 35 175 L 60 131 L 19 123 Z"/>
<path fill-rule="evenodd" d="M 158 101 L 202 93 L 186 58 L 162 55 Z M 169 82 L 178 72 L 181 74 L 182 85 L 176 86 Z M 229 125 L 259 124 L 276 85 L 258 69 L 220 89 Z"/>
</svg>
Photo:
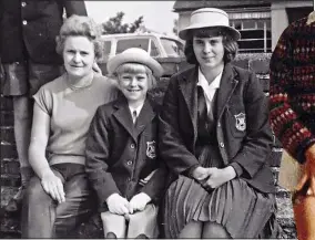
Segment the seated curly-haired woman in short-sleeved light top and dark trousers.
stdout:
<svg viewBox="0 0 315 240">
<path fill-rule="evenodd" d="M 96 108 L 115 84 L 95 74 L 102 55 L 96 24 L 72 15 L 57 38 L 65 72 L 34 98 L 29 159 L 35 176 L 23 201 L 22 238 L 69 238 L 95 206 L 85 174 L 85 138 Z"/>
</svg>

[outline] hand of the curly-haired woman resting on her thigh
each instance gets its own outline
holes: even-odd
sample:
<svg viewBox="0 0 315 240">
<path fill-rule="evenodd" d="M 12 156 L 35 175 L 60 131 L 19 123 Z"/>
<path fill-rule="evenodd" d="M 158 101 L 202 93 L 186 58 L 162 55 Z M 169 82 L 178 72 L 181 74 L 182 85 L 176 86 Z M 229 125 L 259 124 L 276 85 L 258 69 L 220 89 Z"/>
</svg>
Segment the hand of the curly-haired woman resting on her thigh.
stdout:
<svg viewBox="0 0 315 240">
<path fill-rule="evenodd" d="M 65 194 L 63 190 L 63 184 L 59 177 L 57 177 L 52 170 L 48 170 L 42 175 L 41 185 L 44 191 L 50 195 L 59 204 L 65 201 Z"/>
</svg>

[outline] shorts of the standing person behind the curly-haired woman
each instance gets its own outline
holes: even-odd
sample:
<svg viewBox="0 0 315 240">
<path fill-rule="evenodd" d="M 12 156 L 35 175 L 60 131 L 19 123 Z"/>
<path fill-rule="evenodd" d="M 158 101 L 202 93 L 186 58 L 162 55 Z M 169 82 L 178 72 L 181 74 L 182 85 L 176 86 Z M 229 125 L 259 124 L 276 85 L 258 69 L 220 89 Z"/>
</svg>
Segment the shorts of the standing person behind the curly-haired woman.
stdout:
<svg viewBox="0 0 315 240">
<path fill-rule="evenodd" d="M 2 93 L 4 96 L 32 96 L 42 85 L 63 72 L 60 65 L 38 64 L 31 61 L 4 63 L 3 69 Z"/>
</svg>

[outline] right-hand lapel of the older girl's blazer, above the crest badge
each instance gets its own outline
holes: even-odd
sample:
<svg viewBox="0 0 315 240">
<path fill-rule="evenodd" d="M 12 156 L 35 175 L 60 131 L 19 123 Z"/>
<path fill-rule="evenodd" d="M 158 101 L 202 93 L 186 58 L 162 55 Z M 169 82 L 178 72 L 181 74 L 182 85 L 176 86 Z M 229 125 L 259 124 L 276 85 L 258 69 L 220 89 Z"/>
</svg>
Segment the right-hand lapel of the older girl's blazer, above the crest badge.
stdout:
<svg viewBox="0 0 315 240">
<path fill-rule="evenodd" d="M 228 63 L 224 66 L 220 88 L 216 98 L 215 119 L 220 119 L 223 114 L 224 107 L 226 107 L 233 91 L 235 90 L 238 81 L 236 80 L 235 72 L 232 65 Z"/>
</svg>

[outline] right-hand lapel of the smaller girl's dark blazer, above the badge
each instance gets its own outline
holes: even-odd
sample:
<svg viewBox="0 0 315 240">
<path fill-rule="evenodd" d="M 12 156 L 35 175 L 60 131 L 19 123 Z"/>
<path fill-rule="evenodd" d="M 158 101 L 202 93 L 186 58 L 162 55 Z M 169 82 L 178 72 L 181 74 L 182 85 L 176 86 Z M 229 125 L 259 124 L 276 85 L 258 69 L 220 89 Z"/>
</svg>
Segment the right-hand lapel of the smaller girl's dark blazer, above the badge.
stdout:
<svg viewBox="0 0 315 240">
<path fill-rule="evenodd" d="M 150 124 L 156 115 L 151 104 L 152 104 L 151 101 L 148 100 L 146 97 L 144 105 L 135 122 L 135 126 L 134 126 L 134 137 L 135 138 L 145 129 L 145 126 Z"/>
</svg>

